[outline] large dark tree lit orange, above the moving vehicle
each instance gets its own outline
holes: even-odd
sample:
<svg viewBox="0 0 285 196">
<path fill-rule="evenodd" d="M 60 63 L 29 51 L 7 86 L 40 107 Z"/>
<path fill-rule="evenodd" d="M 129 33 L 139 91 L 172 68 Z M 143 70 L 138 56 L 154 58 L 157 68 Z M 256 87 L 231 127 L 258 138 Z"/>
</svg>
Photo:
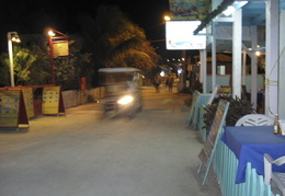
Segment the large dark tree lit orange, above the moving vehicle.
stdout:
<svg viewBox="0 0 285 196">
<path fill-rule="evenodd" d="M 136 67 L 149 70 L 156 67 L 159 56 L 144 30 L 129 21 L 117 7 L 101 5 L 94 20 L 82 16 L 80 23 L 96 68 Z"/>
</svg>

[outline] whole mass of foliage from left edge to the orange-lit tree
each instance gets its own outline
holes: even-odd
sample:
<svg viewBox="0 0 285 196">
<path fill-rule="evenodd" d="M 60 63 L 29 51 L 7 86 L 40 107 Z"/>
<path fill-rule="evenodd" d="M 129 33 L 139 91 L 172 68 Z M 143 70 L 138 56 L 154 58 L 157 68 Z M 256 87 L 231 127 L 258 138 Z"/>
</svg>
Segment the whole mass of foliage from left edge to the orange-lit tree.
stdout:
<svg viewBox="0 0 285 196">
<path fill-rule="evenodd" d="M 94 19 L 81 16 L 78 22 L 82 34 L 69 37 L 69 56 L 54 59 L 55 81 L 64 90 L 79 89 L 81 77 L 87 78 L 88 88 L 94 87 L 96 71 L 103 67 L 136 67 L 146 73 L 157 67 L 160 57 L 144 30 L 118 7 L 101 5 Z M 22 35 L 21 39 L 21 45 L 13 45 L 15 85 L 49 84 L 46 35 Z M 0 55 L 0 87 L 10 85 L 5 53 Z"/>
</svg>

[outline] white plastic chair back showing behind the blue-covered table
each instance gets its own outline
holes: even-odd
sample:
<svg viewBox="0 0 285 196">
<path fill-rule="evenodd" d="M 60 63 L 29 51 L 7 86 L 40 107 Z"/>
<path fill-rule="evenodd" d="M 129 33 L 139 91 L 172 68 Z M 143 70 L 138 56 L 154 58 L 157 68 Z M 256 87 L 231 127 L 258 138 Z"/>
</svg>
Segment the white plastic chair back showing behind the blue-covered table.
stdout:
<svg viewBox="0 0 285 196">
<path fill-rule="evenodd" d="M 239 118 L 236 126 L 271 126 L 274 119 L 264 114 L 248 114 Z"/>
</svg>

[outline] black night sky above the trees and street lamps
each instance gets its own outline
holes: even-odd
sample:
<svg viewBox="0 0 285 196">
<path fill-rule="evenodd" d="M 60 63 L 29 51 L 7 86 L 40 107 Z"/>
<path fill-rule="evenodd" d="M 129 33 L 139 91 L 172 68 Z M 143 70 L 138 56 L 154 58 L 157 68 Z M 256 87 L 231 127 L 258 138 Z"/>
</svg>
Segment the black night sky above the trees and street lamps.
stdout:
<svg viewBox="0 0 285 196">
<path fill-rule="evenodd" d="M 163 15 L 169 13 L 169 0 L 78 0 L 42 1 L 13 0 L 0 5 L 1 50 L 7 49 L 7 32 L 21 34 L 43 34 L 45 27 L 53 27 L 66 34 L 77 33 L 77 19 L 80 15 L 96 15 L 101 4 L 118 5 L 127 18 L 146 31 L 147 38 L 153 43 L 159 55 L 166 51 Z M 167 55 L 168 54 L 168 55 Z"/>
</svg>

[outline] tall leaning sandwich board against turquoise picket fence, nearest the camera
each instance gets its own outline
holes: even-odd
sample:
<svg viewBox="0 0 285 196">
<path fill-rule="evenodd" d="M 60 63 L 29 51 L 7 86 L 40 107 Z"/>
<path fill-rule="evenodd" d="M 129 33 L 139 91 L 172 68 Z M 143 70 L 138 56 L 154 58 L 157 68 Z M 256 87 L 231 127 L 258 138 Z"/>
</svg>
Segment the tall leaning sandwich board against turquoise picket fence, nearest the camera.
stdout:
<svg viewBox="0 0 285 196">
<path fill-rule="evenodd" d="M 202 149 L 202 151 L 198 154 L 198 158 L 201 160 L 200 163 L 200 168 L 197 173 L 200 173 L 202 165 L 204 164 L 206 166 L 206 173 L 203 180 L 203 185 L 205 184 L 209 168 L 210 168 L 210 163 L 214 157 L 214 152 L 218 142 L 218 135 L 220 134 L 220 130 L 224 126 L 227 113 L 228 113 L 228 107 L 229 107 L 229 102 L 225 101 L 225 100 L 220 100 L 214 120 L 213 120 L 213 125 L 210 127 L 210 130 L 208 132 L 207 136 L 207 140 L 204 143 L 204 148 Z"/>
</svg>

